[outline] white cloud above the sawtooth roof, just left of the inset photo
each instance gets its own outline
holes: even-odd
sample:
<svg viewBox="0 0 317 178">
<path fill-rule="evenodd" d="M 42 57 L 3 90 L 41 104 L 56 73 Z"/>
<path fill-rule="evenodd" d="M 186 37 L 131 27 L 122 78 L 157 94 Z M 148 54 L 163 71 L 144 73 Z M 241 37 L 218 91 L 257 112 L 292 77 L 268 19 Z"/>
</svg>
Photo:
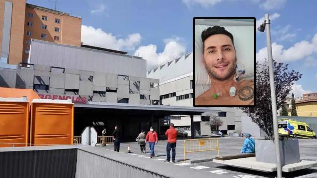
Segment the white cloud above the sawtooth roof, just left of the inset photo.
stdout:
<svg viewBox="0 0 317 178">
<path fill-rule="evenodd" d="M 179 38 L 165 39 L 165 48 L 161 53 L 157 53 L 157 46 L 150 44 L 147 46 L 140 46 L 134 53 L 136 56 L 140 56 L 147 60 L 147 68 L 151 68 L 156 64 L 169 60 L 171 58 L 178 57 L 185 54 L 186 48 L 180 42 Z"/>
</svg>

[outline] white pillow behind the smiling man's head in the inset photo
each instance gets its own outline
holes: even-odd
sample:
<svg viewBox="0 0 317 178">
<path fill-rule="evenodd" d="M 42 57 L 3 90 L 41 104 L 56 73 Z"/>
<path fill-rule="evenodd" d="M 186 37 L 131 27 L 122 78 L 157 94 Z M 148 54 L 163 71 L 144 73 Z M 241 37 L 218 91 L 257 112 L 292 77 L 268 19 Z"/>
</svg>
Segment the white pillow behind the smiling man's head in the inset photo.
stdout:
<svg viewBox="0 0 317 178">
<path fill-rule="evenodd" d="M 195 85 L 211 84 L 209 76 L 203 65 L 203 42 L 201 33 L 207 25 L 195 25 Z M 234 46 L 237 54 L 238 70 L 245 70 L 241 77 L 254 78 L 254 30 L 253 26 L 224 26 L 233 35 Z M 196 87 L 196 86 L 195 86 Z M 198 91 L 198 90 L 197 90 Z M 201 91 L 201 89 L 199 89 Z M 196 88 L 195 88 L 196 92 Z M 196 93 L 195 93 L 196 96 Z"/>
</svg>

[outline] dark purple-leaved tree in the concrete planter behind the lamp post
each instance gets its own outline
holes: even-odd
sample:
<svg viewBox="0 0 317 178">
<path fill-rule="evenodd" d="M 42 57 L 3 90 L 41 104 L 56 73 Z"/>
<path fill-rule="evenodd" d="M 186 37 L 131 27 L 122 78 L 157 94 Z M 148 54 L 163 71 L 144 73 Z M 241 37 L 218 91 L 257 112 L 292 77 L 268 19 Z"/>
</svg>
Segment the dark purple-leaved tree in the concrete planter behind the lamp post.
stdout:
<svg viewBox="0 0 317 178">
<path fill-rule="evenodd" d="M 288 64 L 277 63 L 273 60 L 274 83 L 276 92 L 276 105 L 280 109 L 284 100 L 295 81 L 298 81 L 302 74 L 294 70 L 288 70 Z M 273 138 L 273 114 L 270 91 L 269 69 L 267 61 L 264 65 L 256 66 L 256 100 L 255 107 L 245 107 L 242 110 L 262 129 L 269 139 Z M 277 111 L 276 111 L 277 112 Z"/>
</svg>

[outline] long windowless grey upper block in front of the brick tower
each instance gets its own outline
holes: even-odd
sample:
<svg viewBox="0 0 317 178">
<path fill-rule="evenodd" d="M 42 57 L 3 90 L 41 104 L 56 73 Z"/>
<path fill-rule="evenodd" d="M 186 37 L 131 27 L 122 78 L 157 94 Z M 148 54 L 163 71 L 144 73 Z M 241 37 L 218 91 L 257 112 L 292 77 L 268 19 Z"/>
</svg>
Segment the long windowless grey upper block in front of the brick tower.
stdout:
<svg viewBox="0 0 317 178">
<path fill-rule="evenodd" d="M 146 60 L 139 57 L 41 40 L 32 40 L 31 43 L 30 63 L 32 64 L 146 77 Z"/>
</svg>

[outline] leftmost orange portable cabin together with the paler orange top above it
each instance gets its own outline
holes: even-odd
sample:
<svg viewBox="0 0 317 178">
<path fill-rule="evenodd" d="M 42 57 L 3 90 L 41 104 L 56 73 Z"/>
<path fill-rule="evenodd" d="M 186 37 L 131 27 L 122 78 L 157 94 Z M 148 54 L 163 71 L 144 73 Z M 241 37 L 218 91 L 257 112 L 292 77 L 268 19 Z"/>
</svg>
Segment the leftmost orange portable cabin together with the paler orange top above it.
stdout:
<svg viewBox="0 0 317 178">
<path fill-rule="evenodd" d="M 40 97 L 32 89 L 5 87 L 0 87 L 0 97 L 0 147 L 27 146 L 29 102 Z"/>
</svg>

